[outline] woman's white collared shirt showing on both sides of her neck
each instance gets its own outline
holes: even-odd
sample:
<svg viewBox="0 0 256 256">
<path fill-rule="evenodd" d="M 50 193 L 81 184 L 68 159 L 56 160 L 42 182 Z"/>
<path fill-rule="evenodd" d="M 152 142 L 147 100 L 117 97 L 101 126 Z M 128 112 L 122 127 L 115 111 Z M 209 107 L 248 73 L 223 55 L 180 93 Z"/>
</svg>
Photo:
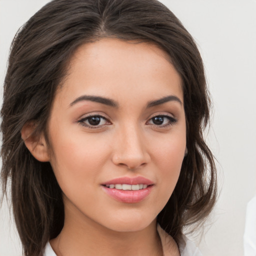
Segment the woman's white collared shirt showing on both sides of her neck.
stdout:
<svg viewBox="0 0 256 256">
<path fill-rule="evenodd" d="M 157 225 L 157 231 L 159 233 L 163 256 L 171 256 L 169 251 L 169 242 L 172 240 L 171 236 L 169 236 L 161 227 Z M 188 240 L 185 236 L 183 236 L 183 242 L 179 244 L 180 256 L 202 256 L 199 249 L 194 245 L 194 243 Z M 43 256 L 56 256 L 55 252 L 50 246 L 50 243 L 47 242 L 45 246 L 45 250 Z"/>
</svg>

